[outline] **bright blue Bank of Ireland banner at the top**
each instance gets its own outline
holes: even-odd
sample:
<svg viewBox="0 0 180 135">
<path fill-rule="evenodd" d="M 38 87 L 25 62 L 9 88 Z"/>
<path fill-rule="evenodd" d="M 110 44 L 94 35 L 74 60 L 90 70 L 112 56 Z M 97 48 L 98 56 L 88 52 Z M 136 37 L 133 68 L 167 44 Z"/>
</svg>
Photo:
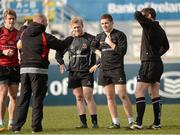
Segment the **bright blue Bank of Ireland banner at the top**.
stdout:
<svg viewBox="0 0 180 135">
<path fill-rule="evenodd" d="M 98 21 L 104 13 L 114 20 L 133 20 L 134 12 L 152 7 L 158 20 L 180 19 L 180 0 L 68 0 L 67 4 L 88 21 Z"/>
</svg>

